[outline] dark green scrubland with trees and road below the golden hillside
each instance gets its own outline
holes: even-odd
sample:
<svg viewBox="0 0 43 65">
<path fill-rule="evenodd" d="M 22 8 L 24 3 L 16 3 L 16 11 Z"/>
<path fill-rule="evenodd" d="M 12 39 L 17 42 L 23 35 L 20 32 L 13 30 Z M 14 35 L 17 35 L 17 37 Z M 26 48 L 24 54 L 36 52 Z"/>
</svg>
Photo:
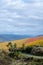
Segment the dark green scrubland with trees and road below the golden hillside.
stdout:
<svg viewBox="0 0 43 65">
<path fill-rule="evenodd" d="M 17 48 L 16 43 L 7 44 L 8 51 L 0 50 L 0 65 L 43 65 L 43 46 L 33 45 Z"/>
</svg>

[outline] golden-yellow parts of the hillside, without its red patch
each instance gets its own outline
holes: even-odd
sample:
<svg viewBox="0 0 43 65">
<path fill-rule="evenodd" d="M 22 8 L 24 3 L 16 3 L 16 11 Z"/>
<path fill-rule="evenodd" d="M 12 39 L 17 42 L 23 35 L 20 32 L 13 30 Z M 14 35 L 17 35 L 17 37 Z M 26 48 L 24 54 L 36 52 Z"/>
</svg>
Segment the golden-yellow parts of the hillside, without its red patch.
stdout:
<svg viewBox="0 0 43 65">
<path fill-rule="evenodd" d="M 38 44 L 43 46 L 43 37 L 40 39 L 37 39 L 35 41 L 30 41 L 30 42 L 26 42 L 27 39 L 29 39 L 29 38 L 22 39 L 22 40 L 15 40 L 15 41 L 11 41 L 11 42 L 12 42 L 12 44 L 16 43 L 17 47 L 22 47 L 22 44 L 25 44 L 25 46 L 38 45 Z M 9 42 L 0 42 L 0 49 L 7 50 L 8 48 L 6 45 L 8 43 Z"/>
</svg>

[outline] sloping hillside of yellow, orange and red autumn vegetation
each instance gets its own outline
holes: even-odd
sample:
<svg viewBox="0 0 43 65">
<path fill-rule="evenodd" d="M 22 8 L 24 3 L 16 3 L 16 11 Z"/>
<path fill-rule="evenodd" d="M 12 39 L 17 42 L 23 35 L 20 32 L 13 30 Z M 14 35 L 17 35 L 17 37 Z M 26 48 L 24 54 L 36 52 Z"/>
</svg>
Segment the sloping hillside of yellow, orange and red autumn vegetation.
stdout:
<svg viewBox="0 0 43 65">
<path fill-rule="evenodd" d="M 30 45 L 41 45 L 43 46 L 43 36 L 39 36 L 39 37 L 34 37 L 34 38 L 26 38 L 26 39 L 21 39 L 21 40 L 13 40 L 13 41 L 9 41 L 12 42 L 13 44 L 16 43 L 17 47 L 21 47 L 22 44 L 25 44 L 25 46 L 30 46 Z M 9 42 L 0 42 L 0 49 L 7 49 L 7 44 Z"/>
</svg>

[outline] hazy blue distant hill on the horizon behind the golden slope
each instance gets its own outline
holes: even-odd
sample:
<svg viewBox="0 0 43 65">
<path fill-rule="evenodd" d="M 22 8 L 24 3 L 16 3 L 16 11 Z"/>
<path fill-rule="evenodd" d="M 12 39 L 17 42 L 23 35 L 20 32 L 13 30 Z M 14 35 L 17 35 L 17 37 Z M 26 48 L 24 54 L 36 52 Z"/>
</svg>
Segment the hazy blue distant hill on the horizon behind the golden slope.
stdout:
<svg viewBox="0 0 43 65">
<path fill-rule="evenodd" d="M 0 42 L 34 37 L 32 35 L 0 34 Z"/>
</svg>

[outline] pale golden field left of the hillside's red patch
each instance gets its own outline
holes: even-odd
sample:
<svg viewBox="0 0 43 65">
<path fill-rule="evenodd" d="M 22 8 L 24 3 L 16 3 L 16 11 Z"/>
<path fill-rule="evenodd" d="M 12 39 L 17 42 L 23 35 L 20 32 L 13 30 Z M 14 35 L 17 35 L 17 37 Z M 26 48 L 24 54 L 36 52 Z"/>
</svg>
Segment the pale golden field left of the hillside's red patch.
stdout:
<svg viewBox="0 0 43 65">
<path fill-rule="evenodd" d="M 15 41 L 9 41 L 9 42 L 12 42 L 12 44 L 17 44 L 17 47 L 21 47 L 22 44 L 24 43 L 24 41 L 27 40 L 27 39 L 22 39 L 22 40 L 15 40 Z M 9 42 L 0 42 L 0 49 L 4 49 L 4 50 L 7 50 L 7 44 Z"/>
</svg>

